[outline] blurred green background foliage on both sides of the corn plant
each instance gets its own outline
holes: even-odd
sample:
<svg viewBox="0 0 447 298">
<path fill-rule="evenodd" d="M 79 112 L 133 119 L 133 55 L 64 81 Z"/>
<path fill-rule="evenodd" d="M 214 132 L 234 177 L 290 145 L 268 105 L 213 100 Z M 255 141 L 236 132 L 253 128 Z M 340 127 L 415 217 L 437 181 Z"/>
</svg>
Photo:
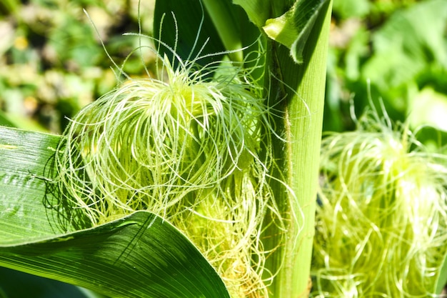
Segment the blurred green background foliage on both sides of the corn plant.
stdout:
<svg viewBox="0 0 447 298">
<path fill-rule="evenodd" d="M 138 0 L 0 1 L 0 124 L 59 134 L 66 117 L 116 86 L 139 39 Z M 91 20 L 86 16 L 85 9 Z M 141 1 L 152 35 L 154 0 Z M 94 26 L 96 26 L 96 30 Z M 96 32 L 97 31 L 97 32 Z M 106 54 L 101 41 L 108 51 Z M 154 57 L 130 56 L 126 73 L 145 76 Z M 368 90 L 371 90 L 368 91 Z M 354 128 L 356 114 L 383 100 L 395 121 L 441 146 L 447 131 L 447 1 L 334 0 L 324 131 Z"/>
</svg>

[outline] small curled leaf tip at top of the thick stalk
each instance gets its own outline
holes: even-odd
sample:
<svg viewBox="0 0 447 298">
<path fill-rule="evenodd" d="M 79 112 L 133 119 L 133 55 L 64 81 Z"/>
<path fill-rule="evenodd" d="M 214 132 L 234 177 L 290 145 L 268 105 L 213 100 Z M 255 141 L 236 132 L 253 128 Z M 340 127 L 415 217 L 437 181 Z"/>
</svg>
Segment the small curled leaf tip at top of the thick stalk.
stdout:
<svg viewBox="0 0 447 298">
<path fill-rule="evenodd" d="M 327 11 L 328 0 L 296 1 L 282 16 L 268 19 L 263 30 L 268 37 L 287 46 L 296 63 L 303 62 L 303 49 L 318 15 Z"/>
</svg>

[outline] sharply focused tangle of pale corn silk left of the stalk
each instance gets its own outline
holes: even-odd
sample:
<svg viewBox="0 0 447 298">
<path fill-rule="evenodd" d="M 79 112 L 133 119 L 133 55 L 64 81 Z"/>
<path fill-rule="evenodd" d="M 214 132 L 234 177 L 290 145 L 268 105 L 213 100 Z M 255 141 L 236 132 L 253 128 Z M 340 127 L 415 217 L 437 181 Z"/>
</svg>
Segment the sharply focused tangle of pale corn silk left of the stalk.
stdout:
<svg viewBox="0 0 447 298">
<path fill-rule="evenodd" d="M 268 297 L 265 214 L 282 223 L 268 184 L 274 163 L 259 152 L 271 146 L 274 111 L 243 63 L 199 66 L 201 56 L 184 61 L 164 46 L 176 61 L 150 46 L 132 53 L 153 51 L 157 77 L 131 78 L 119 66 L 126 79 L 70 119 L 52 169 L 59 204 L 91 226 L 153 212 L 191 239 L 231 297 Z"/>
</svg>

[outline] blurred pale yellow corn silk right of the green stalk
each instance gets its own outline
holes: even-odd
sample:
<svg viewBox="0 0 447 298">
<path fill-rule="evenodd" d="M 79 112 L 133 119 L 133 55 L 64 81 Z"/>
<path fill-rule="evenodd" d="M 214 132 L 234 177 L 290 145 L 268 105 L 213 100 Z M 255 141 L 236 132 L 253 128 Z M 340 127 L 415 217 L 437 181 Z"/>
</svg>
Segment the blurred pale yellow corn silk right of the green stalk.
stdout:
<svg viewBox="0 0 447 298">
<path fill-rule="evenodd" d="M 321 146 L 313 297 L 438 297 L 447 157 L 408 123 L 392 124 L 383 105 L 356 124 Z"/>
</svg>

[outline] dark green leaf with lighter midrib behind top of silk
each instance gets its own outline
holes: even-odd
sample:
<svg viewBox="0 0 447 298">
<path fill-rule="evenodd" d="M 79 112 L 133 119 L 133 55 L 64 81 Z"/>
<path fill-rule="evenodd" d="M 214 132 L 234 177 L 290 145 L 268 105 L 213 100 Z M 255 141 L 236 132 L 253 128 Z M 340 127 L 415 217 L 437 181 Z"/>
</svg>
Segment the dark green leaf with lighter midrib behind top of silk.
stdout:
<svg viewBox="0 0 447 298">
<path fill-rule="evenodd" d="M 200 58 L 197 63 L 204 66 L 222 59 L 222 52 L 243 61 L 240 50 L 253 44 L 260 31 L 231 0 L 163 0 L 156 1 L 154 34 L 161 54 L 172 60 L 175 51 L 183 60 Z"/>
</svg>

